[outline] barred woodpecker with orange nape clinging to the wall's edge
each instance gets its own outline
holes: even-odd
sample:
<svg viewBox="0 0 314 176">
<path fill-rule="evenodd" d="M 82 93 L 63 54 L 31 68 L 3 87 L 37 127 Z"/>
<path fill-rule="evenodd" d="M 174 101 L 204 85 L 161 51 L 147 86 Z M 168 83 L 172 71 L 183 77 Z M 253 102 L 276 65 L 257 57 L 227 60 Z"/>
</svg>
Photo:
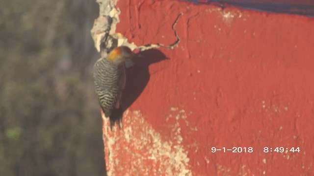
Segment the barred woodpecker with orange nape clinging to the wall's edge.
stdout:
<svg viewBox="0 0 314 176">
<path fill-rule="evenodd" d="M 110 129 L 115 121 L 121 128 L 123 109 L 122 91 L 126 86 L 125 62 L 135 54 L 127 46 L 114 48 L 106 58 L 101 58 L 94 65 L 94 86 L 101 106 L 102 115 L 110 119 Z"/>
</svg>

